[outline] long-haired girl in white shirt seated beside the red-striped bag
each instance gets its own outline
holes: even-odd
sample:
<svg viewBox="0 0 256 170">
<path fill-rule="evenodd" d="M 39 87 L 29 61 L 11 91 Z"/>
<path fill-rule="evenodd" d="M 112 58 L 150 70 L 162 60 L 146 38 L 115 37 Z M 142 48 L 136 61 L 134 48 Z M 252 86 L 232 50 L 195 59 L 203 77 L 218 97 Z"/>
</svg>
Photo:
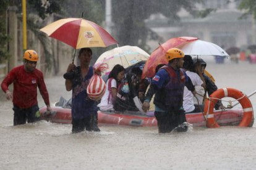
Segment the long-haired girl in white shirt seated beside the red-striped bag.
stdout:
<svg viewBox="0 0 256 170">
<path fill-rule="evenodd" d="M 101 111 L 114 111 L 114 102 L 116 101 L 117 92 L 121 87 L 121 81 L 124 78 L 124 67 L 115 65 L 108 75 L 106 81 L 106 91 L 98 107 Z"/>
</svg>

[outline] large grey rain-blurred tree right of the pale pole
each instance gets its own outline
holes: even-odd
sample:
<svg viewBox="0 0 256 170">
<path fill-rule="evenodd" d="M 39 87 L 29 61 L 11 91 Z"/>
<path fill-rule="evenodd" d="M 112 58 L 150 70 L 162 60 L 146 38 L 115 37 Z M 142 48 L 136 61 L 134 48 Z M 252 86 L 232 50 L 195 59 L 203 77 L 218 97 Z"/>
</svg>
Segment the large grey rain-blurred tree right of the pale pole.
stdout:
<svg viewBox="0 0 256 170">
<path fill-rule="evenodd" d="M 183 8 L 190 14 L 205 17 L 213 9 L 197 10 L 196 3 L 200 0 L 112 0 L 112 18 L 119 44 L 139 46 L 149 51 L 147 41 L 150 39 L 161 41 L 160 37 L 147 28 L 145 20 L 152 14 L 163 14 L 168 22 L 178 22 L 177 13 Z"/>
</svg>

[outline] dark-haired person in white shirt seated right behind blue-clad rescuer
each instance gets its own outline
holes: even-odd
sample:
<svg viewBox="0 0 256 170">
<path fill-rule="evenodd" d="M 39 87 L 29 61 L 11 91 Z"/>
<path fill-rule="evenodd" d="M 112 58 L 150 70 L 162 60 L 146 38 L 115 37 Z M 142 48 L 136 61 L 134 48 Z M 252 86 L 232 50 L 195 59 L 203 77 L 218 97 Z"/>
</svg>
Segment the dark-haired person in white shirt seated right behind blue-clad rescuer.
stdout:
<svg viewBox="0 0 256 170">
<path fill-rule="evenodd" d="M 197 68 L 194 68 L 194 62 L 190 55 L 184 56 L 184 64 L 183 70 L 186 71 L 187 76 L 189 76 L 192 84 L 195 86 L 195 90 L 197 91 L 197 96 L 194 96 L 187 87 L 184 87 L 184 94 L 183 94 L 183 108 L 185 113 L 198 113 L 203 111 L 203 95 L 205 94 L 205 80 L 201 71 Z M 197 71 L 197 73 L 194 72 Z M 194 97 L 197 99 L 196 102 L 194 101 Z"/>
</svg>

